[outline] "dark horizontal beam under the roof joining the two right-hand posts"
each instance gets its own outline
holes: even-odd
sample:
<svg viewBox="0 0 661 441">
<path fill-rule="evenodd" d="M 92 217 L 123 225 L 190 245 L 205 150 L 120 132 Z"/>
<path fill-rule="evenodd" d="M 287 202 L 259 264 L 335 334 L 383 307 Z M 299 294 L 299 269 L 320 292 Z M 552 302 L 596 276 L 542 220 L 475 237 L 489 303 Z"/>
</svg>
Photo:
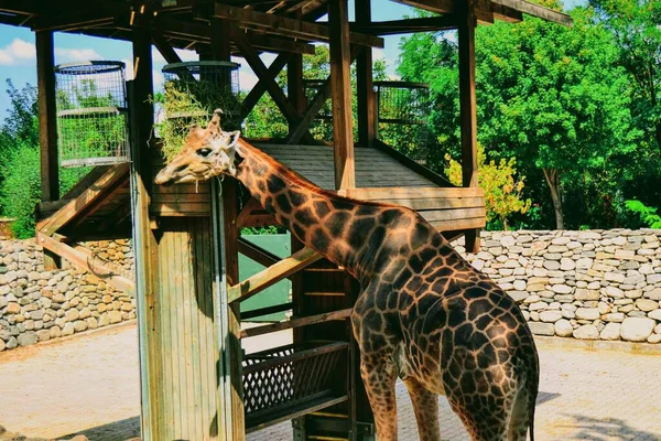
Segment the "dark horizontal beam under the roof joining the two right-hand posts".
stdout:
<svg viewBox="0 0 661 441">
<path fill-rule="evenodd" d="M 357 3 L 359 4 L 359 3 Z M 358 17 L 356 17 L 358 19 Z M 372 35 L 399 35 L 414 32 L 437 32 L 457 29 L 459 21 L 455 14 L 425 17 L 420 19 L 403 19 L 360 23 L 356 20 L 351 29 Z"/>
</svg>

